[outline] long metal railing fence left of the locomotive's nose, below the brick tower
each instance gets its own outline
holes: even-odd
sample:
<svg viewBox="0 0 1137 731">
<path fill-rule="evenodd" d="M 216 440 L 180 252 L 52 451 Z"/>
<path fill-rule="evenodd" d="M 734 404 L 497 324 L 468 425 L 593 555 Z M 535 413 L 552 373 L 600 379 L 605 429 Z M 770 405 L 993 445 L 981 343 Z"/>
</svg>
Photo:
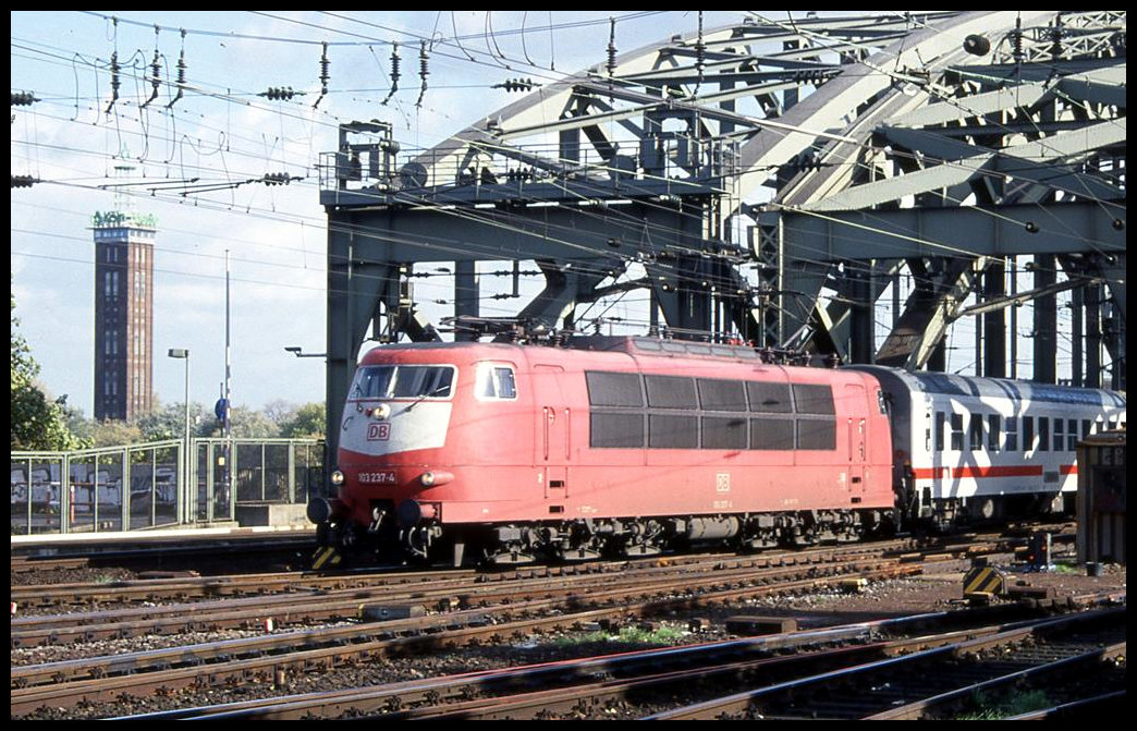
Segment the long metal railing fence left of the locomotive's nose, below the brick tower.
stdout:
<svg viewBox="0 0 1137 731">
<path fill-rule="evenodd" d="M 194 439 L 11 452 L 11 534 L 128 531 L 234 518 L 239 502 L 304 504 L 324 481 L 315 439 Z M 188 473 L 188 474 L 186 474 Z"/>
</svg>

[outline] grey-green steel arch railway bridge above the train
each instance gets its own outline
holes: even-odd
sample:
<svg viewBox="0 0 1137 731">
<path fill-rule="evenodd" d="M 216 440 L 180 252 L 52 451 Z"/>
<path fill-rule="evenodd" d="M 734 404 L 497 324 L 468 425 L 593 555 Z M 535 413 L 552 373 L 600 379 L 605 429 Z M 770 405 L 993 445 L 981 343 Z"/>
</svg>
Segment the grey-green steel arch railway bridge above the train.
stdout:
<svg viewBox="0 0 1137 731">
<path fill-rule="evenodd" d="M 457 339 L 509 332 L 481 316 L 476 263 L 512 263 L 517 296 L 532 260 L 545 289 L 511 318 L 529 332 L 646 292 L 646 329 L 674 338 L 943 369 L 973 317 L 995 376 L 1016 375 L 1032 300 L 1051 382 L 1069 290 L 1072 380 L 1102 383 L 1105 349 L 1123 388 L 1124 78 L 1124 11 L 752 14 L 609 53 L 430 150 L 343 125 L 321 166 L 330 447 L 368 333 L 440 338 L 409 286 L 437 261 Z"/>
</svg>

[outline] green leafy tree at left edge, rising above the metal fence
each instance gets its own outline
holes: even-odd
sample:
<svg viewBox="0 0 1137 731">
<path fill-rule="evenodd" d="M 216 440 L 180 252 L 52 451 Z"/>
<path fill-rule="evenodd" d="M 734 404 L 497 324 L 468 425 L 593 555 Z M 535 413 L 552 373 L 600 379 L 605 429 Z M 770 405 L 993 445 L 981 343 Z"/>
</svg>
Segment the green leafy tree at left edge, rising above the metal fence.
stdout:
<svg viewBox="0 0 1137 731">
<path fill-rule="evenodd" d="M 40 364 L 16 332 L 16 296 L 11 296 L 11 449 L 77 449 L 83 443 L 67 427 L 67 397 L 51 400 L 36 381 Z"/>
</svg>

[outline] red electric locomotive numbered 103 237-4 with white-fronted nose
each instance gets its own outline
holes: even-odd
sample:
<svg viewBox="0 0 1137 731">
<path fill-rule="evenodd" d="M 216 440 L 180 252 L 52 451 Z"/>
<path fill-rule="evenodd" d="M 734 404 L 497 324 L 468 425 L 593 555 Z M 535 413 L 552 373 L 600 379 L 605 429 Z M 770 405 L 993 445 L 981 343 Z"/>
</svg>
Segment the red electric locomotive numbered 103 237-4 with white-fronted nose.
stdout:
<svg viewBox="0 0 1137 731">
<path fill-rule="evenodd" d="M 877 379 L 647 338 L 375 348 L 327 547 L 492 564 L 853 541 L 895 509 Z"/>
</svg>

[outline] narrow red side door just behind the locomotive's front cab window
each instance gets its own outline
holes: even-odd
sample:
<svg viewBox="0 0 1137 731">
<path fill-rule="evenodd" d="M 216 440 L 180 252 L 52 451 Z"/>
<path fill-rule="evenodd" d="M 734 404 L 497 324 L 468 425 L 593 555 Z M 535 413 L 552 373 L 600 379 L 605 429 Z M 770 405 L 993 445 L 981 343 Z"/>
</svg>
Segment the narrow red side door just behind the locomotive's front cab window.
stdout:
<svg viewBox="0 0 1137 731">
<path fill-rule="evenodd" d="M 568 497 L 572 410 L 561 388 L 563 380 L 564 368 L 561 366 L 533 366 L 533 404 L 537 414 L 533 462 L 540 471 L 545 498 L 549 500 Z"/>
</svg>

